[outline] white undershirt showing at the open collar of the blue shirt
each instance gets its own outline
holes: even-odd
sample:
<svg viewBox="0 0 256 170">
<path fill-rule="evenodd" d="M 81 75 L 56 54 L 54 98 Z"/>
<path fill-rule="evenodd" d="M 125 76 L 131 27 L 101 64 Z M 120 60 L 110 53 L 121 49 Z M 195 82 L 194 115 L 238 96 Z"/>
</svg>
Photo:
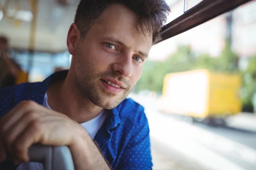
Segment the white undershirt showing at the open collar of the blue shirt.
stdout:
<svg viewBox="0 0 256 170">
<path fill-rule="evenodd" d="M 43 106 L 46 108 L 49 108 L 49 105 L 47 103 L 47 94 L 45 93 L 44 95 L 44 103 Z M 94 137 L 96 136 L 99 128 L 102 126 L 104 120 L 106 119 L 106 112 L 102 111 L 101 113 L 99 113 L 98 116 L 96 116 L 95 118 L 81 123 L 80 125 L 82 125 L 84 127 L 84 129 L 87 131 L 87 133 L 89 134 L 89 136 L 91 137 L 91 139 L 94 139 Z"/>
</svg>

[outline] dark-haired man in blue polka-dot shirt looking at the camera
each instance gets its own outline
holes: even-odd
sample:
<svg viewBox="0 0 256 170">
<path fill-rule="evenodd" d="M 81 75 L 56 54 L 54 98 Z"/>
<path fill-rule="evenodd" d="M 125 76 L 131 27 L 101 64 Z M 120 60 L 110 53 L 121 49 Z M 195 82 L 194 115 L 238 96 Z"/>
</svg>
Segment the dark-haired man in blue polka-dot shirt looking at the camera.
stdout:
<svg viewBox="0 0 256 170">
<path fill-rule="evenodd" d="M 67 36 L 70 70 L 1 91 L 0 160 L 28 162 L 41 143 L 67 145 L 76 170 L 151 169 L 143 107 L 125 98 L 168 12 L 164 0 L 81 0 Z M 18 170 L 26 168 L 42 166 Z"/>
</svg>

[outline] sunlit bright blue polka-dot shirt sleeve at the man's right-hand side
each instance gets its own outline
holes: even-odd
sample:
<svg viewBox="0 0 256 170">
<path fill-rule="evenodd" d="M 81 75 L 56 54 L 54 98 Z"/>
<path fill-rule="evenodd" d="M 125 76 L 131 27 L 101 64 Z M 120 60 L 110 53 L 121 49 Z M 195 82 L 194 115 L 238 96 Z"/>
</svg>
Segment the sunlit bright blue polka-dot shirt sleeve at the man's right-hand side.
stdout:
<svg viewBox="0 0 256 170">
<path fill-rule="evenodd" d="M 143 111 L 134 127 L 134 135 L 125 147 L 117 170 L 152 170 L 148 120 Z"/>
</svg>

